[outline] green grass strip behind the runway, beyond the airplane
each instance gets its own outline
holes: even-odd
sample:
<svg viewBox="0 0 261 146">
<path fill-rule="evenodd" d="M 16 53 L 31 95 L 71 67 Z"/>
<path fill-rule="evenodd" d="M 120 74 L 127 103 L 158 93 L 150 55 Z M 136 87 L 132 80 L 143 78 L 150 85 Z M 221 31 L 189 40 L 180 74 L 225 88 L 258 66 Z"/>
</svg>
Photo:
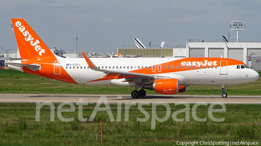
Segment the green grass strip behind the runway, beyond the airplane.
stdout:
<svg viewBox="0 0 261 146">
<path fill-rule="evenodd" d="M 258 72 L 261 76 L 261 72 Z M 229 85 L 228 95 L 261 95 L 261 78 L 253 83 Z M 130 94 L 134 88 L 117 86 L 90 86 L 52 81 L 52 79 L 27 74 L 17 70 L 0 70 L 1 93 L 40 93 L 40 94 Z M 147 94 L 158 94 L 146 90 Z M 221 95 L 220 86 L 189 86 L 187 91 L 179 94 Z"/>
</svg>

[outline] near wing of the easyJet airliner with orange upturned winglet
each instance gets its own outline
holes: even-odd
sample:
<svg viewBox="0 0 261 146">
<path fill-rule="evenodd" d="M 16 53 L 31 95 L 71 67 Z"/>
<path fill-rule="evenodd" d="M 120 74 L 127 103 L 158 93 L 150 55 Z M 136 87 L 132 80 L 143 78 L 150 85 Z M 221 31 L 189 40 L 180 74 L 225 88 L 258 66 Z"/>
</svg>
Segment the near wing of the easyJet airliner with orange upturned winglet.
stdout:
<svg viewBox="0 0 261 146">
<path fill-rule="evenodd" d="M 84 59 L 88 63 L 90 69 L 99 71 L 99 72 L 104 72 L 105 74 L 115 74 L 117 76 L 126 76 L 126 78 L 129 77 L 138 77 L 138 78 L 169 78 L 168 76 L 158 76 L 158 75 L 150 75 L 150 74 L 141 74 L 141 73 L 134 73 L 134 72 L 121 72 L 121 71 L 115 71 L 115 70 L 103 70 L 97 68 L 97 66 L 85 55 L 84 52 L 82 52 L 82 55 L 84 56 Z M 108 76 L 108 75 L 106 75 Z M 125 78 L 125 77 L 123 77 Z"/>
</svg>

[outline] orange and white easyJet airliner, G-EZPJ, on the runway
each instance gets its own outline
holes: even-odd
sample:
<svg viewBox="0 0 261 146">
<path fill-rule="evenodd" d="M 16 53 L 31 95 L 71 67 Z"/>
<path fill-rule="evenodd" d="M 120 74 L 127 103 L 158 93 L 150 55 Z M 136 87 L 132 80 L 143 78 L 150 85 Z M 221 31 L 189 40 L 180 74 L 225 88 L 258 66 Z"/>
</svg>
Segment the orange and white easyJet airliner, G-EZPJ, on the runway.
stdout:
<svg viewBox="0 0 261 146">
<path fill-rule="evenodd" d="M 69 83 L 135 87 L 133 98 L 144 89 L 162 94 L 185 92 L 189 85 L 250 83 L 259 78 L 255 70 L 228 58 L 62 58 L 54 55 L 24 19 L 12 19 L 21 60 L 8 67 Z M 138 89 L 141 88 L 139 91 Z"/>
</svg>

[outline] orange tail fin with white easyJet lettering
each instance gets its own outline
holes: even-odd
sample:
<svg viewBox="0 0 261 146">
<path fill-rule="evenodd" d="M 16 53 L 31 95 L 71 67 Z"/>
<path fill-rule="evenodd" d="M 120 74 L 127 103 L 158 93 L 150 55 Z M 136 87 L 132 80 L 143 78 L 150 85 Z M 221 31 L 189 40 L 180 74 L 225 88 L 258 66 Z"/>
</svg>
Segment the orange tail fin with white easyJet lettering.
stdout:
<svg viewBox="0 0 261 146">
<path fill-rule="evenodd" d="M 12 24 L 21 59 L 56 58 L 24 19 L 12 18 Z"/>
</svg>

